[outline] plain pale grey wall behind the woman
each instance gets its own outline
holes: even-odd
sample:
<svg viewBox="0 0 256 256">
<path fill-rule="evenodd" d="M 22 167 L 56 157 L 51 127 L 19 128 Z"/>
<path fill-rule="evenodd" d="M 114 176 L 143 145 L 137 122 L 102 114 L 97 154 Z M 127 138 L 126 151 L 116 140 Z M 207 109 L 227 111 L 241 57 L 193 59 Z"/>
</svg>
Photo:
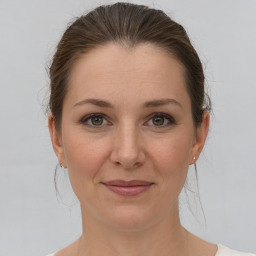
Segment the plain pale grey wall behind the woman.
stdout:
<svg viewBox="0 0 256 256">
<path fill-rule="evenodd" d="M 93 0 L 0 0 L 0 256 L 45 255 L 81 234 L 79 203 L 59 170 L 44 116 L 50 63 L 67 23 Z M 205 67 L 214 116 L 199 190 L 181 216 L 191 232 L 256 252 L 256 1 L 140 0 L 187 30 Z M 193 190 L 193 168 L 189 172 Z M 189 211 L 191 205 L 193 214 Z"/>
</svg>

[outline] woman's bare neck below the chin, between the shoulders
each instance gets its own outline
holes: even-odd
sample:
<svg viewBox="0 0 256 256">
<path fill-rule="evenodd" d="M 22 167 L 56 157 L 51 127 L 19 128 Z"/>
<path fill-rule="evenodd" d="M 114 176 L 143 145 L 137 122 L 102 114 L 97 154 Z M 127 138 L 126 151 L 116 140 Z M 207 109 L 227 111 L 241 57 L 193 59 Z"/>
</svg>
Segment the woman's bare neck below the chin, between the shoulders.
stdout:
<svg viewBox="0 0 256 256">
<path fill-rule="evenodd" d="M 82 208 L 79 256 L 177 256 L 188 252 L 188 232 L 181 226 L 178 204 L 169 216 L 137 230 L 121 230 L 91 218 Z"/>
</svg>

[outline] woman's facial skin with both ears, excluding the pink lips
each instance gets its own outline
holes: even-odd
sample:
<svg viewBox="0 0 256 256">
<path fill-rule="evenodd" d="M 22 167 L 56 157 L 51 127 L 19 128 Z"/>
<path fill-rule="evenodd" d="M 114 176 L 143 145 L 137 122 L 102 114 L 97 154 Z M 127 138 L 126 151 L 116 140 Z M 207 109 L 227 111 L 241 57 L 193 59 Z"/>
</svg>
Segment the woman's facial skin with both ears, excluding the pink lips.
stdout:
<svg viewBox="0 0 256 256">
<path fill-rule="evenodd" d="M 49 128 L 83 216 L 132 229 L 177 210 L 188 166 L 204 145 L 208 116 L 193 126 L 184 68 L 163 49 L 108 44 L 75 63 L 61 133 L 52 116 Z M 127 196 L 104 184 L 112 180 L 152 185 Z"/>
</svg>

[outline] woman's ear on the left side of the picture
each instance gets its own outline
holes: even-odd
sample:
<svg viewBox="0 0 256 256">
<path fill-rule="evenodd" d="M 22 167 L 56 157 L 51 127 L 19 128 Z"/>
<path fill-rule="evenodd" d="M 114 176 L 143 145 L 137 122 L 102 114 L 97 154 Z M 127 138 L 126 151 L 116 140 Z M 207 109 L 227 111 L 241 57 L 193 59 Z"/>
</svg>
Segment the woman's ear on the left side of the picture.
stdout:
<svg viewBox="0 0 256 256">
<path fill-rule="evenodd" d="M 61 165 L 65 167 L 66 163 L 65 163 L 64 150 L 63 150 L 62 141 L 61 141 L 61 135 L 55 128 L 55 121 L 52 114 L 48 116 L 48 128 L 51 135 L 53 150 L 56 156 L 58 157 L 59 163 L 61 163 Z"/>
</svg>

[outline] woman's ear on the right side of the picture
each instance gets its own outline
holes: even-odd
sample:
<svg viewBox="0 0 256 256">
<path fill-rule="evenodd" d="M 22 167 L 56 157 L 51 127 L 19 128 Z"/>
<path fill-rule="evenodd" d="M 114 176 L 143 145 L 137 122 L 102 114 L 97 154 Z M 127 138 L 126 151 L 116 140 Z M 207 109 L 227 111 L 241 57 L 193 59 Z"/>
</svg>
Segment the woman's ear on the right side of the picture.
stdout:
<svg viewBox="0 0 256 256">
<path fill-rule="evenodd" d="M 194 164 L 196 160 L 199 158 L 201 151 L 203 150 L 207 134 L 209 131 L 209 123 L 210 123 L 210 114 L 208 111 L 204 111 L 203 113 L 203 121 L 199 127 L 196 128 L 195 138 L 193 142 L 193 147 L 191 151 L 191 160 L 190 164 Z"/>
</svg>

